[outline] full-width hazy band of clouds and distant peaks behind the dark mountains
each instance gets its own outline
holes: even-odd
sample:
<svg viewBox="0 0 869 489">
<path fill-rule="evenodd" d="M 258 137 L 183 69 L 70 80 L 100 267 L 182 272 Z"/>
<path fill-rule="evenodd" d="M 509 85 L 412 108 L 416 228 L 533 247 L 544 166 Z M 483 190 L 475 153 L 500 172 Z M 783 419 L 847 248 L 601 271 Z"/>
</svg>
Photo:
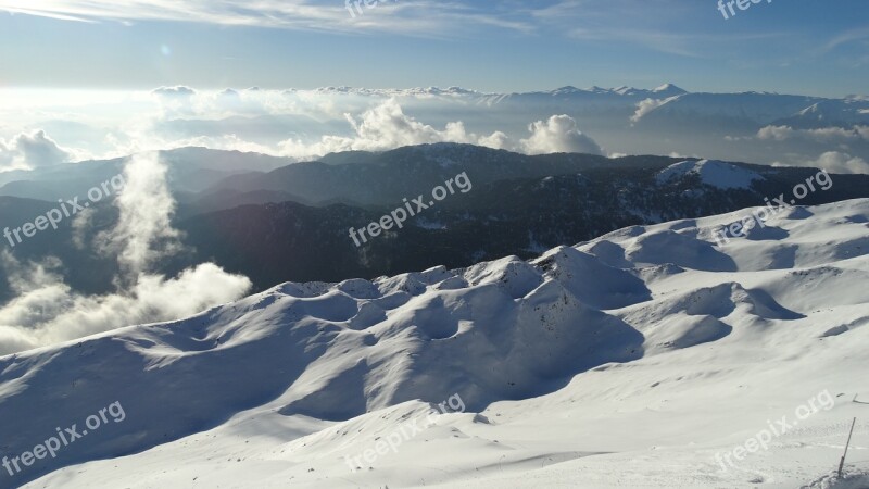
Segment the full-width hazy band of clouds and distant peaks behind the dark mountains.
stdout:
<svg viewBox="0 0 869 489">
<path fill-rule="evenodd" d="M 672 85 L 530 93 L 177 86 L 126 99 L 113 93 L 105 102 L 88 97 L 87 110 L 41 105 L 39 117 L 23 109 L 25 116 L 16 117 L 0 108 L 4 121 L 25 121 L 0 127 L 0 170 L 189 146 L 307 160 L 429 142 L 527 154 L 678 153 L 786 165 L 820 161 L 832 165 L 828 170 L 855 171 L 869 160 L 869 100 L 859 98 L 691 93 Z M 831 159 L 828 153 L 841 154 Z"/>
</svg>

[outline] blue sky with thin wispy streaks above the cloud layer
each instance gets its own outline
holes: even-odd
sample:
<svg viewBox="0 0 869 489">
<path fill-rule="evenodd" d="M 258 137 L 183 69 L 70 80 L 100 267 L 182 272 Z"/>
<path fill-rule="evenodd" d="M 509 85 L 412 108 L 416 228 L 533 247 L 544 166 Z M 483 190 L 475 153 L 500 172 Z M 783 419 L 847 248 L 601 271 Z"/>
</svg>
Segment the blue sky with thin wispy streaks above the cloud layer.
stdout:
<svg viewBox="0 0 869 489">
<path fill-rule="evenodd" d="M 0 87 L 869 92 L 866 0 L 0 0 Z"/>
</svg>

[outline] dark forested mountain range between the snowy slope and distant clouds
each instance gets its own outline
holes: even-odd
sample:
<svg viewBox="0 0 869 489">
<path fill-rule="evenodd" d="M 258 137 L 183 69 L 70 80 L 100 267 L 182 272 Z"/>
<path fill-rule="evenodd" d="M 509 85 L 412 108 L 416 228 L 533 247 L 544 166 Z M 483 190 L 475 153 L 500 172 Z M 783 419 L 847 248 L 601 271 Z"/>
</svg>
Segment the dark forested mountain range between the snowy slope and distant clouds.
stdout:
<svg viewBox="0 0 869 489">
<path fill-rule="evenodd" d="M 473 183 L 467 193 L 455 192 L 408 218 L 401 230 L 389 230 L 363 247 L 349 236 L 351 227 L 380 220 L 403 205 L 403 198 L 430 196 L 432 188 L 459 173 Z M 225 189 L 176 191 L 174 226 L 182 231 L 186 248 L 162 260 L 158 272 L 174 276 L 213 261 L 250 277 L 262 291 L 287 280 L 340 281 L 436 265 L 464 267 L 505 255 L 531 259 L 626 226 L 760 205 L 765 199 L 791 195 L 817 173 L 660 156 L 526 156 L 445 143 L 339 153 L 272 174 L 239 174 L 222 180 L 217 187 Z M 816 188 L 798 203 L 869 198 L 869 176 L 832 175 L 830 183 L 828 190 Z M 92 227 L 79 236 L 84 242 L 117 218 L 111 202 L 95 211 Z M 25 215 L 32 221 L 38 214 Z M 58 256 L 73 289 L 111 290 L 116 260 L 91 247 L 76 247 L 68 224 L 40 234 L 38 247 L 28 243 L 13 250 L 14 255 Z"/>
</svg>

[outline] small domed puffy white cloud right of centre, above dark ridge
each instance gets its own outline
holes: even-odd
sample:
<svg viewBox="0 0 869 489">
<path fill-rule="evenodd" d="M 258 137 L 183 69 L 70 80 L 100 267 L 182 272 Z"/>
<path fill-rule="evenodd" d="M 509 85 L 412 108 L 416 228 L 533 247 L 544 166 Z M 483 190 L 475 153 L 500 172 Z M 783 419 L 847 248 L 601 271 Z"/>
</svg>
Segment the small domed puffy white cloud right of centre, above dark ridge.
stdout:
<svg viewBox="0 0 869 489">
<path fill-rule="evenodd" d="M 538 121 L 530 126 L 531 137 L 519 141 L 526 154 L 589 153 L 603 154 L 594 139 L 582 134 L 569 115 L 553 115 L 549 121 Z"/>
</svg>

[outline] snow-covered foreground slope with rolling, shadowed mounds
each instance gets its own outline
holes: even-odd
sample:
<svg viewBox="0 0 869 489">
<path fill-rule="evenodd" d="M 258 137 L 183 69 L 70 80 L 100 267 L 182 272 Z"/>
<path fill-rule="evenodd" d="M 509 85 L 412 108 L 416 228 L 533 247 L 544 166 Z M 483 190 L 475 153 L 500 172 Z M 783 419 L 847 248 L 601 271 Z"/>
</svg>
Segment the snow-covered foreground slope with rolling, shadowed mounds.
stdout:
<svg viewBox="0 0 869 489">
<path fill-rule="evenodd" d="M 869 487 L 869 200 L 750 212 L 2 358 L 3 455 L 125 416 L 0 487 Z"/>
</svg>

